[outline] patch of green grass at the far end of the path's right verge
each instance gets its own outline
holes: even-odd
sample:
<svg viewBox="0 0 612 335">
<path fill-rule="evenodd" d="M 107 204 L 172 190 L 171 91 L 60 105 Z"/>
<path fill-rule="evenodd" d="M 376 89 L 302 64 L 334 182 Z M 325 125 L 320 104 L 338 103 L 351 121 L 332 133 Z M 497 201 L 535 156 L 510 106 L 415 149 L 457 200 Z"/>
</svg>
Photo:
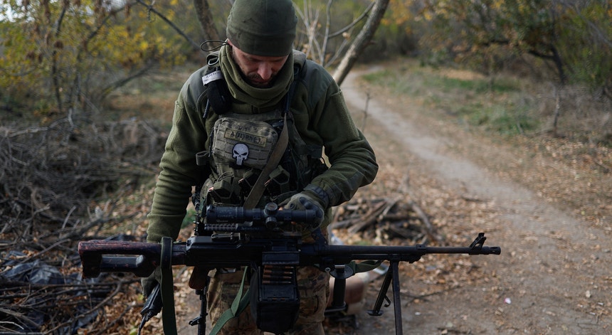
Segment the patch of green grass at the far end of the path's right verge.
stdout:
<svg viewBox="0 0 612 335">
<path fill-rule="evenodd" d="M 491 80 L 469 71 L 425 68 L 407 61 L 399 70 L 381 70 L 364 79 L 487 132 L 524 134 L 541 126 L 534 100 L 524 98 L 527 93 L 514 78 Z"/>
</svg>

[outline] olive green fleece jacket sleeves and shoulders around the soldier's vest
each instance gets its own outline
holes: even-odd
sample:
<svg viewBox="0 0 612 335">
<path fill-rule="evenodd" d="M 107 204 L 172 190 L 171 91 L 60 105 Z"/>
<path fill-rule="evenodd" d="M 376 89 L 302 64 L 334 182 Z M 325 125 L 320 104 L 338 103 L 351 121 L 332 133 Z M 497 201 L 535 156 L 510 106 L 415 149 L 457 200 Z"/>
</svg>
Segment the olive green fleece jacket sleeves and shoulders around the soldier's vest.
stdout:
<svg viewBox="0 0 612 335">
<path fill-rule="evenodd" d="M 287 62 L 290 60 L 306 71 L 297 78 L 299 82 L 290 105 L 295 126 L 307 144 L 325 148 L 331 165 L 312 179 L 308 188 L 319 191 L 318 196 L 330 213 L 329 208 L 349 201 L 357 188 L 374 180 L 378 171 L 376 157 L 349 116 L 342 91 L 332 76 L 298 51 Z M 196 165 L 196 153 L 209 148 L 209 131 L 218 119 L 212 110 L 203 118 L 206 90 L 201 78 L 207 70 L 205 66 L 193 73 L 176 100 L 172 129 L 159 164 L 161 171 L 148 216 L 149 242 L 158 242 L 164 236 L 177 238 L 192 186 L 202 184 L 209 176 L 206 168 Z M 233 112 L 252 114 L 257 109 L 234 99 Z"/>
</svg>

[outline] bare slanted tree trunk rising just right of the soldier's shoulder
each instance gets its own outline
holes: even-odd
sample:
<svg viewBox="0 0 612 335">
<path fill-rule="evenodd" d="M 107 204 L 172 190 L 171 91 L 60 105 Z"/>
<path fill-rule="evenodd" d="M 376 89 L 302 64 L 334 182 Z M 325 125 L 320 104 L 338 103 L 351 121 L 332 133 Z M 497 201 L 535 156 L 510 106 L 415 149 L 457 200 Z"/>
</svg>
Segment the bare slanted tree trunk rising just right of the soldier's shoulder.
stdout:
<svg viewBox="0 0 612 335">
<path fill-rule="evenodd" d="M 386 11 L 387 5 L 389 5 L 389 0 L 376 0 L 374 7 L 372 7 L 370 15 L 368 16 L 368 20 L 366 21 L 364 28 L 362 31 L 359 31 L 359 35 L 355 38 L 355 41 L 347 50 L 346 55 L 340 61 L 338 68 L 334 72 L 334 80 L 338 85 L 342 84 L 344 78 L 347 77 L 349 71 L 357 61 L 357 58 L 362 53 L 364 48 L 371 41 L 372 36 L 376 32 L 376 29 L 379 27 L 382 17 Z"/>
</svg>

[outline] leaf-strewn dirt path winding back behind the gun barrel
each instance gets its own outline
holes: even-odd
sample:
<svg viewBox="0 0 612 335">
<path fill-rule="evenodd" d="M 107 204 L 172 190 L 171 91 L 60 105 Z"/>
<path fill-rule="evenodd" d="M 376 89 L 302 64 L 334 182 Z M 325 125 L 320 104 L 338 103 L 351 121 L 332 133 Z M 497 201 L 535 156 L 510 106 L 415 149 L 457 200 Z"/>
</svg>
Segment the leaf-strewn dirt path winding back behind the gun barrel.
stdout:
<svg viewBox="0 0 612 335">
<path fill-rule="evenodd" d="M 463 218 L 450 231 L 482 230 L 489 238 L 487 245 L 502 248 L 500 256 L 475 257 L 482 275 L 452 289 L 426 294 L 427 282 L 403 280 L 404 331 L 611 334 L 610 230 L 577 220 L 544 202 L 537 190 L 500 178 L 470 161 L 470 155 L 458 155 L 469 148 L 474 154 L 496 150 L 503 156 L 503 147 L 487 147 L 465 134 L 440 135 L 457 134 L 457 129 L 438 129 L 446 125 L 423 117 L 427 113 L 417 102 L 384 95 L 366 100 L 370 88 L 358 87 L 356 75 L 349 76 L 342 89 L 353 110 L 366 109 L 362 125 L 379 157 L 379 176 L 386 169 L 405 170 L 410 187 L 434 204 L 440 193 L 447 200 L 470 199 L 472 207 L 450 208 L 465 213 L 440 214 Z M 358 124 L 359 118 L 357 112 Z M 473 216 L 470 211 L 486 215 Z M 372 285 L 370 302 L 375 289 Z M 386 313 L 379 318 L 360 315 L 355 334 L 394 334 L 392 309 Z"/>
</svg>

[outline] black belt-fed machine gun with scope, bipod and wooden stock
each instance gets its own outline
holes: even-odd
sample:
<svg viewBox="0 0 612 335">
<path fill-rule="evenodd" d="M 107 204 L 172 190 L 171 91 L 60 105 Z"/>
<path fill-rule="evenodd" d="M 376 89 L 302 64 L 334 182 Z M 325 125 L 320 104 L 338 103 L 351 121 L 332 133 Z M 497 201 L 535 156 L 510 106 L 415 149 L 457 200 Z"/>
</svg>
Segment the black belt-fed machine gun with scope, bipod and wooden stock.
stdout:
<svg viewBox="0 0 612 335">
<path fill-rule="evenodd" d="M 302 234 L 292 231 L 290 227 L 295 226 L 292 224 L 295 222 L 307 226 L 314 219 L 314 211 L 280 210 L 275 203 L 268 203 L 263 209 L 251 210 L 209 206 L 206 210 L 206 223 L 196 228 L 199 230 L 196 232 L 198 235 L 185 242 L 174 243 L 171 238 L 162 238 L 162 243 L 90 240 L 80 242 L 78 252 L 85 277 L 97 277 L 100 272 L 131 272 L 138 277 L 148 277 L 160 267 L 162 300 L 164 307 L 167 307 L 163 312 L 169 309 L 168 312 L 172 314 L 172 318 L 163 314 L 166 334 L 176 333 L 172 265 L 187 265 L 204 270 L 251 267 L 249 299 L 253 317 L 261 330 L 282 334 L 293 326 L 299 310 L 295 267 L 309 265 L 329 272 L 335 278 L 332 308 L 342 309 L 347 278 L 359 272 L 362 265 L 371 269 L 380 262 L 388 261 L 389 270 L 374 307 L 368 313 L 379 316 L 385 301 L 386 307 L 389 306 L 391 301 L 386 294 L 392 285 L 396 334 L 402 334 L 399 262 L 416 262 L 427 254 L 501 253 L 500 247 L 484 245 L 484 233 L 478 234 L 468 247 L 357 246 L 328 245 L 321 230 L 317 228 L 312 232 L 315 242 L 302 243 Z M 365 262 L 356 263 L 356 260 Z M 164 272 L 170 272 L 170 275 L 164 276 Z M 170 292 L 169 295 L 163 293 L 164 286 Z M 206 295 L 203 290 L 199 294 L 203 300 L 202 312 L 190 324 L 198 325 L 199 334 L 205 334 Z M 151 296 L 145 304 L 147 311 L 142 312 L 143 324 L 145 318 L 159 312 L 159 307 L 151 307 L 156 299 Z M 248 302 L 248 299 L 242 300 Z M 279 317 L 279 311 L 287 317 Z"/>
</svg>

